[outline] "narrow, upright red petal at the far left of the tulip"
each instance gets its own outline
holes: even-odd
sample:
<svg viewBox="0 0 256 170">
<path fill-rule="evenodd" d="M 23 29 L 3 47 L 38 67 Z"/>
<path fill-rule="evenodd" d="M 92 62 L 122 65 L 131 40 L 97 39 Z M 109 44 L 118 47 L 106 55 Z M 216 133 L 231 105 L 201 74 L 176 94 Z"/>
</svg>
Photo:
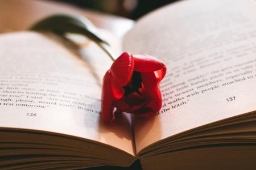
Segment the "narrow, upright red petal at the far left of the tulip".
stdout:
<svg viewBox="0 0 256 170">
<path fill-rule="evenodd" d="M 113 105 L 112 105 L 112 87 L 109 78 L 110 70 L 108 70 L 103 79 L 102 96 L 101 96 L 101 112 L 104 121 L 112 121 L 113 119 Z"/>
</svg>

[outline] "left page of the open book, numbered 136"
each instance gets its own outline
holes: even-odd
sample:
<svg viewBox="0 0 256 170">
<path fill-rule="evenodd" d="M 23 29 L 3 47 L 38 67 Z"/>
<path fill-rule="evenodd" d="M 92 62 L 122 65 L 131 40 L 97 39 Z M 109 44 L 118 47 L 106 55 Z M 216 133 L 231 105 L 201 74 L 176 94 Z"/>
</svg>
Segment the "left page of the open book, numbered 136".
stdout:
<svg viewBox="0 0 256 170">
<path fill-rule="evenodd" d="M 134 155 L 129 118 L 104 124 L 100 115 L 112 61 L 96 44 L 81 45 L 84 59 L 53 35 L 0 36 L 0 127 L 74 135 Z"/>
</svg>

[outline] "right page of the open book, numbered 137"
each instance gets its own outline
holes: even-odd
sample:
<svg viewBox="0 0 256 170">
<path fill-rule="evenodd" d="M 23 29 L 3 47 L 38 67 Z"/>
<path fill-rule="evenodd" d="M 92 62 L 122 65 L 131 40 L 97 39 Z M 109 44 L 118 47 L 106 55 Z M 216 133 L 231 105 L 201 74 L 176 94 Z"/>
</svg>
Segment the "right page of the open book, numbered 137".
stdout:
<svg viewBox="0 0 256 170">
<path fill-rule="evenodd" d="M 172 135 L 256 110 L 256 2 L 181 1 L 140 19 L 125 50 L 167 65 L 163 107 L 134 118 L 137 151 Z"/>
</svg>

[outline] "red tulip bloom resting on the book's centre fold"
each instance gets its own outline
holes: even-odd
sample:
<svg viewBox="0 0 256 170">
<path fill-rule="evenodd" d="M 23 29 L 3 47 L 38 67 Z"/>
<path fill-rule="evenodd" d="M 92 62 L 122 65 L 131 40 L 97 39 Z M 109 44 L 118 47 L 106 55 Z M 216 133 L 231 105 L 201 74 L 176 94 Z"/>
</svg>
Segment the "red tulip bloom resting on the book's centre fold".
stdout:
<svg viewBox="0 0 256 170">
<path fill-rule="evenodd" d="M 166 66 L 147 55 L 123 53 L 106 72 L 102 87 L 102 117 L 112 121 L 116 112 L 150 116 L 162 107 L 159 82 Z"/>
</svg>

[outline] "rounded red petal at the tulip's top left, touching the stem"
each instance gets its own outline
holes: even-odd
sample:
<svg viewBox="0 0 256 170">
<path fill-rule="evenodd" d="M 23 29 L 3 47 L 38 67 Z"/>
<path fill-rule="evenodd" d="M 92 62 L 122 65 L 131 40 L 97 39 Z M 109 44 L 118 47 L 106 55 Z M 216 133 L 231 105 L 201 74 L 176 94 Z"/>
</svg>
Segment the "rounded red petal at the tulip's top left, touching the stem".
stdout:
<svg viewBox="0 0 256 170">
<path fill-rule="evenodd" d="M 120 84 L 125 86 L 131 80 L 134 70 L 134 59 L 130 53 L 122 53 L 117 59 L 115 59 L 113 65 L 110 68 L 111 74 Z"/>
</svg>

